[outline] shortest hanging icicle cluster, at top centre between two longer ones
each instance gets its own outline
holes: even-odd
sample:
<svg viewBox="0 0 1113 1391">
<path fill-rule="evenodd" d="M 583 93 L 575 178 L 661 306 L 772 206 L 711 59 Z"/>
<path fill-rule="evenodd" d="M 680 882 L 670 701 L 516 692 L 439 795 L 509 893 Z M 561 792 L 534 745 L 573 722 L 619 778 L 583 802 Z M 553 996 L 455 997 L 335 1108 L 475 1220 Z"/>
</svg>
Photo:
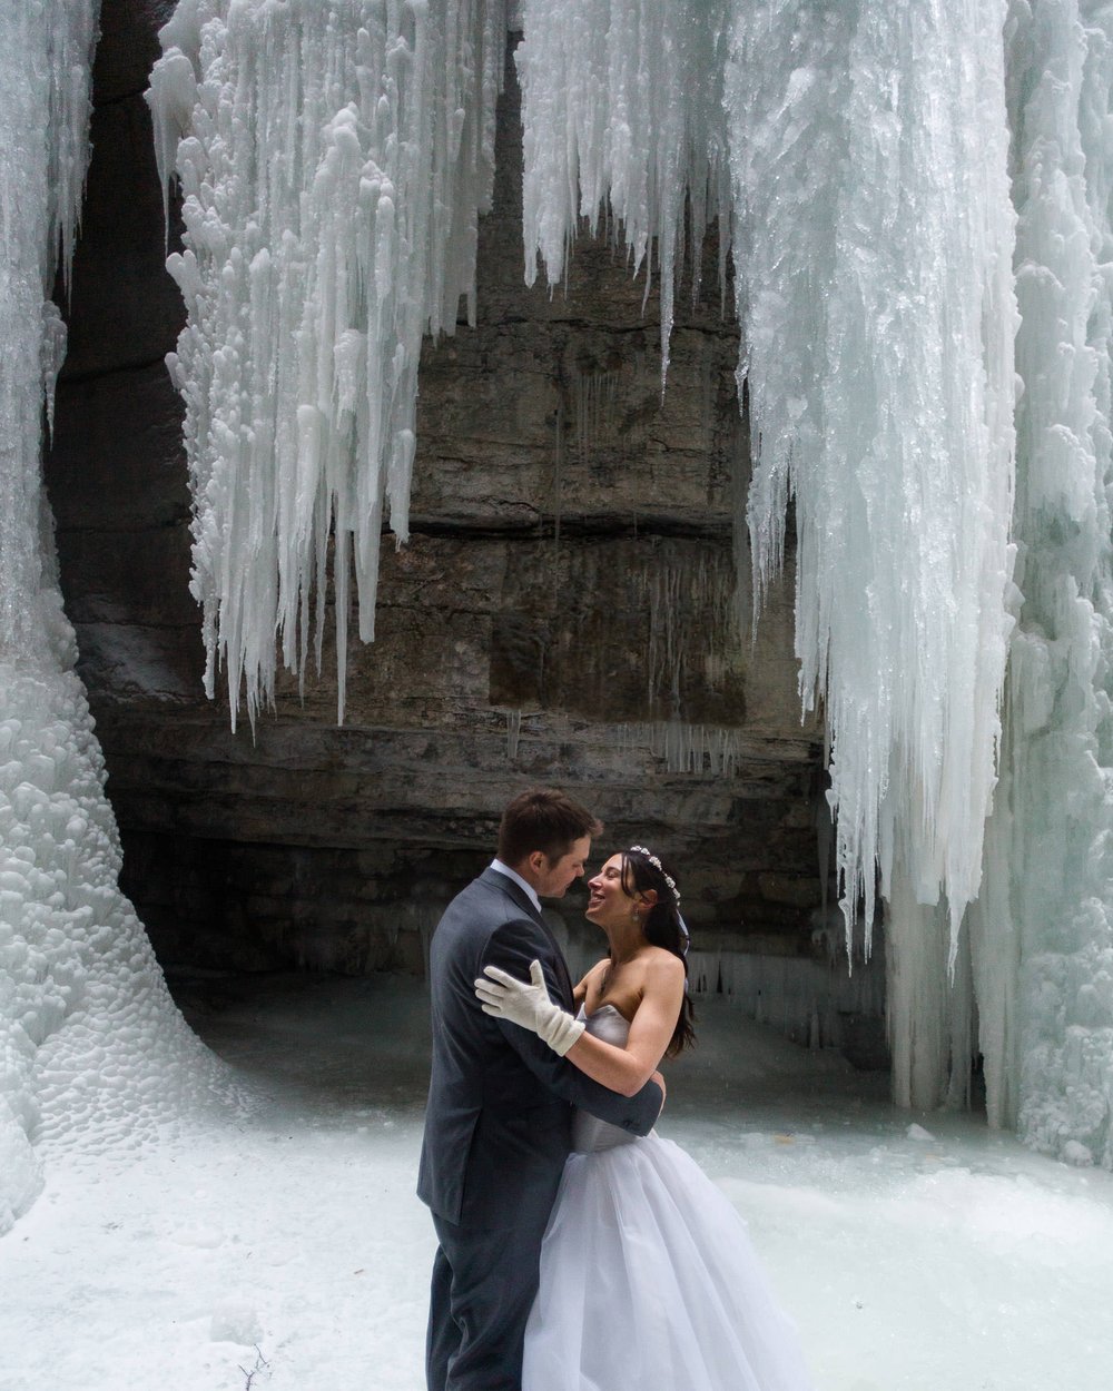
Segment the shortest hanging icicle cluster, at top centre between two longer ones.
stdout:
<svg viewBox="0 0 1113 1391">
<path fill-rule="evenodd" d="M 690 248 L 693 291 L 708 223 L 729 250 L 722 107 L 728 0 L 525 0 L 516 53 L 523 108 L 526 281 L 537 257 L 565 274 L 579 217 L 591 234 L 614 214 L 634 274 L 652 245 L 661 274 L 661 385 L 676 282 Z"/>
</svg>

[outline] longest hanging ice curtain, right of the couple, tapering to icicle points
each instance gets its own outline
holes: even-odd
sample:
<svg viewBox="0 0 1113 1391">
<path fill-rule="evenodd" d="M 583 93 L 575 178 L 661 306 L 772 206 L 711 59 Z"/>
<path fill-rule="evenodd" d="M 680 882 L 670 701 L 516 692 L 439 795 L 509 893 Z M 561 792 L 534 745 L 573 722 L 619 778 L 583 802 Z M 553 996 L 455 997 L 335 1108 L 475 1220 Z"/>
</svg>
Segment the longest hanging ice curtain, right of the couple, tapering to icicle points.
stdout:
<svg viewBox="0 0 1113 1391">
<path fill-rule="evenodd" d="M 758 588 L 796 502 L 797 655 L 847 908 L 981 878 L 1010 619 L 1004 6 L 771 7 L 728 74 Z M 903 893 L 903 890 L 902 890 Z"/>
</svg>

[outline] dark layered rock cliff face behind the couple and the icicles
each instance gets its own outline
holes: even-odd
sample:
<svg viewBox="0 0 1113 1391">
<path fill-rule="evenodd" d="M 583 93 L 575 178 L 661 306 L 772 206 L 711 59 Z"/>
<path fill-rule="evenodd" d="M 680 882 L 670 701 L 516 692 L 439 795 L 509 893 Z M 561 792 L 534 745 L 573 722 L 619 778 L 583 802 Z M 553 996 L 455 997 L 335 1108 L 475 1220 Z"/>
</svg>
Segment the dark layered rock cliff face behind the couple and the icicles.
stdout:
<svg viewBox="0 0 1113 1391">
<path fill-rule="evenodd" d="M 602 817 L 604 847 L 671 860 L 698 951 L 811 957 L 819 736 L 799 718 L 792 577 L 753 645 L 739 623 L 747 440 L 714 248 L 662 398 L 654 298 L 605 242 L 577 245 L 566 292 L 525 288 L 512 64 L 479 325 L 427 345 L 413 538 L 385 554 L 377 641 L 349 652 L 345 725 L 327 641 L 320 679 L 282 689 L 255 737 L 205 700 L 163 364 L 182 307 L 142 102 L 170 8 L 106 0 L 49 460 L 125 886 L 156 949 L 420 971 L 501 805 L 555 783 Z M 573 943 L 582 907 L 562 906 Z"/>
</svg>

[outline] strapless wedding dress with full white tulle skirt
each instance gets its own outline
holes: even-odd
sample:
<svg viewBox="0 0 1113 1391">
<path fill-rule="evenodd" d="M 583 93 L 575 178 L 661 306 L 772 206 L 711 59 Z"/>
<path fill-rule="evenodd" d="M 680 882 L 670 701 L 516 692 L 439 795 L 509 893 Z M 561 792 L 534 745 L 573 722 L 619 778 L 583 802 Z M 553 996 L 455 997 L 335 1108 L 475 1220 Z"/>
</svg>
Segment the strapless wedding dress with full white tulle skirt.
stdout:
<svg viewBox="0 0 1113 1391">
<path fill-rule="evenodd" d="M 583 1014 L 582 1014 L 583 1017 Z M 612 1004 L 588 1032 L 623 1046 Z M 811 1391 L 746 1227 L 657 1132 L 584 1113 L 541 1248 L 522 1391 Z"/>
</svg>

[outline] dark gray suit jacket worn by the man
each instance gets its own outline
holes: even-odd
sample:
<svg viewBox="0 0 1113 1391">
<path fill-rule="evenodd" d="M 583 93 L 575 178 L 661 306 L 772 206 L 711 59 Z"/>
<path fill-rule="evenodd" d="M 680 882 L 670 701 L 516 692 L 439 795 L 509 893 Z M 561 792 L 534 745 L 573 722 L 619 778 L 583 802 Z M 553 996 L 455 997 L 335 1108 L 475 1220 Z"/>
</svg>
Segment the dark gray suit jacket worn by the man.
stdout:
<svg viewBox="0 0 1113 1391">
<path fill-rule="evenodd" d="M 481 1011 L 474 981 L 483 967 L 525 981 L 533 960 L 550 996 L 572 1010 L 556 939 L 519 885 L 493 868 L 452 900 L 433 936 L 433 1072 L 417 1195 L 451 1223 L 509 1231 L 519 1200 L 531 1206 L 541 1192 L 555 1193 L 573 1106 L 634 1135 L 647 1135 L 661 1110 L 654 1082 L 619 1096 L 534 1034 Z"/>
</svg>

